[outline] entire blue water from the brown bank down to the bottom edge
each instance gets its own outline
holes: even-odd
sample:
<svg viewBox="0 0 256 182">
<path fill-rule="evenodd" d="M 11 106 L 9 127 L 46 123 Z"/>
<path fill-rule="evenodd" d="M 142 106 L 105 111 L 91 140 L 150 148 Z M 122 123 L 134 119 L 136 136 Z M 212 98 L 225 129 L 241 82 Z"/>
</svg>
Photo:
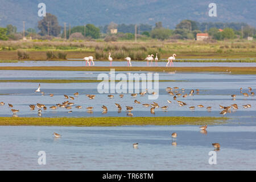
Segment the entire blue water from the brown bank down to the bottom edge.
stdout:
<svg viewBox="0 0 256 182">
<path fill-rule="evenodd" d="M 79 71 L 1 71 L 1 80 L 19 79 L 97 79 L 102 72 Z M 105 72 L 109 73 L 109 72 Z M 119 72 L 117 72 L 119 73 Z M 128 72 L 123 72 L 128 76 Z M 130 72 L 134 73 L 134 72 Z M 142 73 L 142 72 L 139 72 Z M 28 105 L 44 104 L 48 107 L 42 117 L 127 117 L 125 106 L 133 106 L 133 117 L 158 116 L 207 116 L 222 117 L 218 105 L 237 104 L 238 110 L 230 110 L 225 116 L 228 123 L 209 126 L 207 134 L 200 133 L 199 126 L 123 126 L 123 127 L 44 127 L 44 126 L 0 126 L 0 170 L 255 170 L 256 163 L 256 114 L 255 96 L 245 97 L 240 93 L 249 93 L 251 86 L 255 92 L 255 75 L 231 75 L 229 73 L 159 73 L 159 80 L 179 80 L 177 82 L 159 82 L 159 97 L 148 100 L 148 95 L 133 98 L 125 94 L 119 98 L 115 93 L 109 99 L 108 93 L 99 94 L 98 83 L 47 84 L 41 83 L 45 93 L 35 93 L 39 83 L 0 82 L 0 117 L 11 117 L 11 108 L 19 109 L 19 117 L 38 117 L 37 109 L 31 111 Z M 194 96 L 177 97 L 187 103 L 179 106 L 166 92 L 166 87 L 179 87 L 178 92 L 185 94 L 191 89 L 200 89 Z M 184 92 L 181 91 L 184 88 Z M 67 109 L 50 110 L 49 106 L 65 101 L 64 94 L 80 95 L 71 101 L 73 113 Z M 173 90 L 174 92 L 174 90 Z M 49 94 L 54 94 L 49 97 Z M 95 100 L 89 100 L 85 94 L 96 94 Z M 231 94 L 237 94 L 232 100 Z M 167 111 L 134 104 L 134 100 L 143 104 L 158 102 L 167 105 Z M 172 103 L 168 104 L 167 100 Z M 117 112 L 114 103 L 121 104 L 123 110 Z M 108 106 L 108 113 L 102 114 L 102 105 Z M 203 104 L 212 106 L 211 111 L 189 106 Z M 242 105 L 251 108 L 243 109 Z M 81 105 L 82 109 L 75 106 Z M 93 106 L 93 113 L 86 107 Z M 55 139 L 53 132 L 62 135 Z M 170 135 L 177 132 L 177 139 Z M 137 149 L 133 143 L 139 143 Z M 176 146 L 172 145 L 176 142 Z M 221 144 L 217 152 L 217 164 L 210 165 L 209 152 L 212 143 Z M 175 144 L 175 143 L 173 143 Z M 46 165 L 38 164 L 38 152 L 46 151 Z"/>
</svg>

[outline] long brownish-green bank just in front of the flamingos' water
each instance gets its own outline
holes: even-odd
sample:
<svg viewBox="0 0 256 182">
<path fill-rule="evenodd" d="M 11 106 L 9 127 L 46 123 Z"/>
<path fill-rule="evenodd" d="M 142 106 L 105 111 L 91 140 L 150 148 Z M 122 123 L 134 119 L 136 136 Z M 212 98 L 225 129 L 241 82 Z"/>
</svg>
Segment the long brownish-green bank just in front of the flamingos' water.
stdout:
<svg viewBox="0 0 256 182">
<path fill-rule="evenodd" d="M 256 67 L 0 67 L 0 70 L 26 71 L 101 71 L 110 69 L 134 72 L 218 72 L 237 75 L 256 75 Z"/>
</svg>

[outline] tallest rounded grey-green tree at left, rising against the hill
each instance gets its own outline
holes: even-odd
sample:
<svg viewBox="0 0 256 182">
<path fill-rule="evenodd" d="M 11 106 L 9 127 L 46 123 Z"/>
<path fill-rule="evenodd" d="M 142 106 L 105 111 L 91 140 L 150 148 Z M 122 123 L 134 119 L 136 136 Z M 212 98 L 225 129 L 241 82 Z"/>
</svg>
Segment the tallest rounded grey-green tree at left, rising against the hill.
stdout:
<svg viewBox="0 0 256 182">
<path fill-rule="evenodd" d="M 48 34 L 48 23 L 49 23 L 49 35 L 57 36 L 60 34 L 61 27 L 55 15 L 47 13 L 46 16 L 38 22 L 38 28 L 41 31 L 40 35 Z"/>
</svg>

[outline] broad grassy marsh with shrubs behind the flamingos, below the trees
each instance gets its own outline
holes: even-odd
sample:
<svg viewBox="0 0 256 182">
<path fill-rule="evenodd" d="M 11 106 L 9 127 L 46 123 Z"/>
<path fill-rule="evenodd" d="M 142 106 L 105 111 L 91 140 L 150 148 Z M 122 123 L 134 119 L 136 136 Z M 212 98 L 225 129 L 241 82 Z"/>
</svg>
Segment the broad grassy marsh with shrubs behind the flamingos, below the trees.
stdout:
<svg viewBox="0 0 256 182">
<path fill-rule="evenodd" d="M 246 40 L 196 41 L 2 41 L 0 42 L 0 60 L 18 60 L 18 52 L 25 53 L 22 60 L 48 60 L 47 53 L 65 55 L 65 59 L 82 59 L 93 56 L 96 60 L 108 60 L 112 52 L 113 60 L 144 60 L 147 55 L 158 53 L 158 58 L 167 59 L 173 53 L 177 59 L 241 59 L 256 57 L 256 42 Z M 58 56 L 57 56 L 58 57 Z M 57 60 L 52 57 L 52 60 Z M 65 60 L 63 59 L 63 60 Z M 60 59 L 61 60 L 61 59 Z"/>
</svg>

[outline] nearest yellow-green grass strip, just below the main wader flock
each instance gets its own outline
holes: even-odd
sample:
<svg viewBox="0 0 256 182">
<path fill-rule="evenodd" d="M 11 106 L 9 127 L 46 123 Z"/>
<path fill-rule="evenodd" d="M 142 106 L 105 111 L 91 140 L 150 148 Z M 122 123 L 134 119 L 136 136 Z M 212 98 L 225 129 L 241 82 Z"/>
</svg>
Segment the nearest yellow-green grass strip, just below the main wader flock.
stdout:
<svg viewBox="0 0 256 182">
<path fill-rule="evenodd" d="M 133 126 L 217 125 L 226 117 L 102 117 L 102 118 L 12 118 L 0 117 L 0 126 Z"/>
</svg>

